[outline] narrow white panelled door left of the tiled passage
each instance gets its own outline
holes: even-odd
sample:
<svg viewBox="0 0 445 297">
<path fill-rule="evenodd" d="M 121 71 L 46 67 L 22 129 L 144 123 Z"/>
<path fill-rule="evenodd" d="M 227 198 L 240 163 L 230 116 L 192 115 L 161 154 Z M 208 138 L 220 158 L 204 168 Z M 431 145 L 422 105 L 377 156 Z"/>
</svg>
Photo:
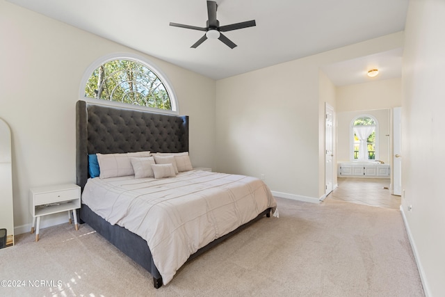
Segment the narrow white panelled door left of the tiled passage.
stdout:
<svg viewBox="0 0 445 297">
<path fill-rule="evenodd" d="M 329 104 L 325 105 L 325 195 L 332 192 L 334 182 L 334 109 Z"/>
</svg>

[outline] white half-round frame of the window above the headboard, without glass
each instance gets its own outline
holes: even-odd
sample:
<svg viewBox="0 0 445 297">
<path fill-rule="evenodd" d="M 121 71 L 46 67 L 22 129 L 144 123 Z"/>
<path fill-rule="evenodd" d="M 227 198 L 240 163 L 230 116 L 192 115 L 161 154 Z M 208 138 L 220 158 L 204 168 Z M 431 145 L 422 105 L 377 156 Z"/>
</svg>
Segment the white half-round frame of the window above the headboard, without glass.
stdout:
<svg viewBox="0 0 445 297">
<path fill-rule="evenodd" d="M 147 67 L 149 70 L 151 70 L 156 75 L 156 77 L 158 77 L 162 81 L 162 83 L 165 87 L 165 90 L 167 90 L 168 96 L 170 97 L 170 104 L 172 106 L 172 110 L 170 111 L 168 109 L 156 109 L 154 107 L 149 107 L 149 106 L 140 106 L 140 105 L 136 105 L 136 104 L 127 104 L 127 103 L 123 103 L 123 102 L 115 102 L 115 101 L 111 101 L 111 100 L 86 97 L 85 96 L 85 86 L 86 86 L 86 83 L 88 83 L 88 79 L 90 79 L 92 72 L 94 72 L 99 66 L 101 66 L 105 63 L 108 63 L 110 61 L 114 61 L 114 60 L 133 61 L 136 63 L 140 63 L 140 64 L 144 65 L 145 67 Z M 96 61 L 91 63 L 87 67 L 85 72 L 83 72 L 83 77 L 81 79 L 81 83 L 79 86 L 79 98 L 81 100 L 84 100 L 86 102 L 91 102 L 94 104 L 116 106 L 116 107 L 121 107 L 124 109 L 138 109 L 138 110 L 144 110 L 144 111 L 151 111 L 154 113 L 168 113 L 168 114 L 173 114 L 173 115 L 179 115 L 179 104 L 177 102 L 176 93 L 172 87 L 172 83 L 170 83 L 170 81 L 165 76 L 165 74 L 163 74 L 163 72 L 159 69 L 159 67 L 157 67 L 152 61 L 150 61 L 149 59 L 147 59 L 143 56 L 139 56 L 139 55 L 131 54 L 131 53 L 108 54 L 106 56 L 102 56 L 102 57 L 98 58 Z"/>
</svg>

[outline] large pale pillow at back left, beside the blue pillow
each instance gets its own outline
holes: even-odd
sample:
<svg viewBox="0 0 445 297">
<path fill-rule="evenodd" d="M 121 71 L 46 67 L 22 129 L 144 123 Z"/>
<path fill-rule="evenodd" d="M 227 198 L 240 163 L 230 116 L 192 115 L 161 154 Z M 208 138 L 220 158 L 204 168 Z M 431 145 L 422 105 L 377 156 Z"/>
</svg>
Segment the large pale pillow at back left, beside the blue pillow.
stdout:
<svg viewBox="0 0 445 297">
<path fill-rule="evenodd" d="M 99 177 L 104 179 L 108 177 L 124 177 L 134 175 L 133 166 L 131 166 L 131 156 L 150 156 L 150 152 L 128 152 L 122 154 L 97 154 L 99 161 Z"/>
</svg>

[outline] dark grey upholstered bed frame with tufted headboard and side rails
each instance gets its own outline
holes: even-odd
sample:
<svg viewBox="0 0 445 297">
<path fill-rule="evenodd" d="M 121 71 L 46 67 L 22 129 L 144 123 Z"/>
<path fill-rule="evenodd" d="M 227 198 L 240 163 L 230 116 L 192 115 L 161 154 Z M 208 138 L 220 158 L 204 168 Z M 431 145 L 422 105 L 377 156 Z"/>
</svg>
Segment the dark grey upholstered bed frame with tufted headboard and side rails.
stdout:
<svg viewBox="0 0 445 297">
<path fill-rule="evenodd" d="M 188 152 L 188 116 L 122 109 L 81 100 L 76 103 L 76 183 L 82 191 L 88 179 L 88 154 L 140 151 Z M 270 216 L 270 209 L 197 250 L 188 261 L 264 215 Z M 162 286 L 161 274 L 154 265 L 145 239 L 124 227 L 111 225 L 85 204 L 81 204 L 79 218 L 80 223 L 90 225 L 125 255 L 143 266 L 152 275 L 156 289 Z"/>
</svg>

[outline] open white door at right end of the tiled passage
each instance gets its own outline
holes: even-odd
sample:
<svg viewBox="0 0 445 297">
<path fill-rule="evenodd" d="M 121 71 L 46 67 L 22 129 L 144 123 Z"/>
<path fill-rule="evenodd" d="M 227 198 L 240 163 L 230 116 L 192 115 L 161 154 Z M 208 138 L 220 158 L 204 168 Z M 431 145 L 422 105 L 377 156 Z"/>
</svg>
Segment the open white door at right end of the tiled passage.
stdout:
<svg viewBox="0 0 445 297">
<path fill-rule="evenodd" d="M 401 115 L 402 108 L 393 110 L 393 194 L 402 195 L 402 156 L 401 156 Z"/>
</svg>

